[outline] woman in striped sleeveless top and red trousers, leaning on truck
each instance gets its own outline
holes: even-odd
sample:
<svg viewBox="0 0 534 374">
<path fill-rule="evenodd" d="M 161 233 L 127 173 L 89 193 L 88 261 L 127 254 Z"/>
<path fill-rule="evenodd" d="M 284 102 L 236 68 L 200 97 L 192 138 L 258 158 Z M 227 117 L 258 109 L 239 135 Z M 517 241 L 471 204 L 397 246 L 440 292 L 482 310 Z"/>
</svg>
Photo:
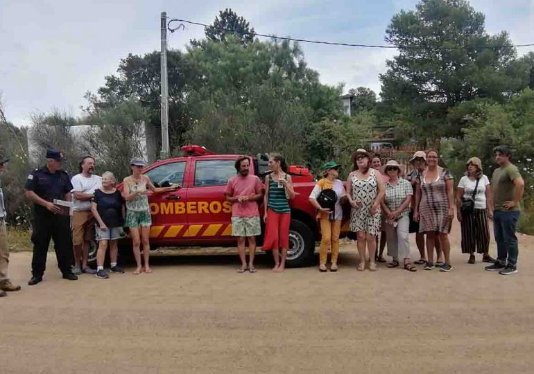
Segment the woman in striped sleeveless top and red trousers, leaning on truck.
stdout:
<svg viewBox="0 0 534 374">
<path fill-rule="evenodd" d="M 291 208 L 289 199 L 295 197 L 291 176 L 287 173 L 287 164 L 282 155 L 273 153 L 269 158 L 269 168 L 273 172 L 265 178 L 264 220 L 266 222 L 264 251 L 273 251 L 275 267 L 280 273 L 286 267 L 289 249 L 289 224 Z M 282 256 L 280 256 L 282 253 Z"/>
</svg>

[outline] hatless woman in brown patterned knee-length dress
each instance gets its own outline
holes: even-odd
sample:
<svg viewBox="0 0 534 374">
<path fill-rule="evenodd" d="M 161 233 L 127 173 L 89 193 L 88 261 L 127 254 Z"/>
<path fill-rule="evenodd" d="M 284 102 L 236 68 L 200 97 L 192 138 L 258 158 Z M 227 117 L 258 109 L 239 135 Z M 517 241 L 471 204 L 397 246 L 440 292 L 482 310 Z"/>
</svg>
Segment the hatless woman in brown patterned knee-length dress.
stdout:
<svg viewBox="0 0 534 374">
<path fill-rule="evenodd" d="M 445 256 L 440 271 L 451 271 L 451 244 L 449 232 L 454 217 L 454 177 L 449 170 L 438 166 L 438 152 L 427 152 L 427 168 L 422 172 L 415 193 L 413 219 L 420 222 L 419 232 L 427 234 L 427 265 L 434 267 L 433 254 L 436 240 L 439 240 Z"/>
</svg>

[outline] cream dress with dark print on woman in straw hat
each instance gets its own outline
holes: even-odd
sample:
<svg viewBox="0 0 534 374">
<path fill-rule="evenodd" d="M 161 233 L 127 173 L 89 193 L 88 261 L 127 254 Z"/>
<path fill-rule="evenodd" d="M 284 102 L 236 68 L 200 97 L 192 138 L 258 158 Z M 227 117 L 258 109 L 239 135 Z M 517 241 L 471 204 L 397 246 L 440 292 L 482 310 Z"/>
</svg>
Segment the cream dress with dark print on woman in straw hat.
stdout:
<svg viewBox="0 0 534 374">
<path fill-rule="evenodd" d="M 378 195 L 377 172 L 370 169 L 369 177 L 365 180 L 358 179 L 356 173 L 352 175 L 352 199 L 360 202 L 359 208 L 350 211 L 350 231 L 380 234 L 381 214 L 380 208 L 377 213 L 371 214 L 371 206 Z"/>
</svg>

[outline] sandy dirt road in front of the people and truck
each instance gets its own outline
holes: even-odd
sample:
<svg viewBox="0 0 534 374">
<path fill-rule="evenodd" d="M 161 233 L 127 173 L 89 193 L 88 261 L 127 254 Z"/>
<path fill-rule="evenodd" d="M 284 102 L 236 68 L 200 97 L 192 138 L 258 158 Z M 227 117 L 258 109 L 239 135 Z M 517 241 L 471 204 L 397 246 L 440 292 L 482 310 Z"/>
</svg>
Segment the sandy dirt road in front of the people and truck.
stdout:
<svg viewBox="0 0 534 374">
<path fill-rule="evenodd" d="M 449 274 L 360 273 L 345 245 L 327 274 L 166 256 L 153 274 L 69 282 L 49 256 L 28 287 L 31 253 L 13 253 L 24 288 L 0 299 L 0 372 L 533 373 L 534 238 L 509 277 L 467 265 L 452 238 Z"/>
</svg>

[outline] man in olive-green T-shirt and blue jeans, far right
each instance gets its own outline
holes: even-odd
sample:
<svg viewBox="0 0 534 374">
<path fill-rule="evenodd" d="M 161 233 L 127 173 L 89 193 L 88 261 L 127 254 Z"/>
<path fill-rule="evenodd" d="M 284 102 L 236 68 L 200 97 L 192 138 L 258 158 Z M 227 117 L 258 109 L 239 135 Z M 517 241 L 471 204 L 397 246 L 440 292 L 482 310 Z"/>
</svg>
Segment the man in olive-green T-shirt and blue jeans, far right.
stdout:
<svg viewBox="0 0 534 374">
<path fill-rule="evenodd" d="M 519 248 L 515 231 L 521 214 L 519 202 L 523 197 L 525 182 L 517 166 L 510 162 L 512 159 L 510 148 L 499 145 L 493 149 L 493 154 L 495 162 L 499 165 L 492 176 L 493 233 L 497 242 L 497 261 L 485 269 L 510 275 L 517 273 Z"/>
</svg>

